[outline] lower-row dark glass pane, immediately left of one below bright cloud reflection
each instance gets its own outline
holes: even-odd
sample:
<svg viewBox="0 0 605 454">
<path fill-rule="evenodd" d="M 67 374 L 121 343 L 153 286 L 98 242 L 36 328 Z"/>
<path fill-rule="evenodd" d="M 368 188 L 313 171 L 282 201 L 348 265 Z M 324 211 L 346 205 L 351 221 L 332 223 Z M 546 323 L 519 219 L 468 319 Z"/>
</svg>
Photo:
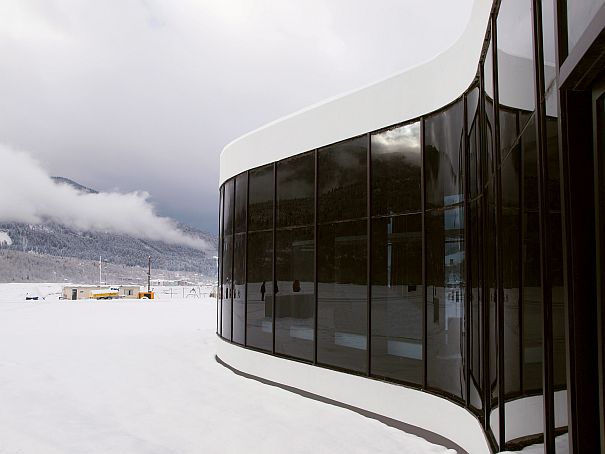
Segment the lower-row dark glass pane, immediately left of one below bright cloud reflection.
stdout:
<svg viewBox="0 0 605 454">
<path fill-rule="evenodd" d="M 318 227 L 317 361 L 367 371 L 365 221 Z"/>
</svg>

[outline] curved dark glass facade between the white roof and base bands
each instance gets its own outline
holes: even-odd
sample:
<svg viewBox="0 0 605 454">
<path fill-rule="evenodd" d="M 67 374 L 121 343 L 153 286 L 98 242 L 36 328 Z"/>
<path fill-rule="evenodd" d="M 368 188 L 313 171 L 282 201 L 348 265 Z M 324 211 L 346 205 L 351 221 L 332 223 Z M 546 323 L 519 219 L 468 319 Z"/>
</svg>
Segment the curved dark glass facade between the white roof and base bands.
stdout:
<svg viewBox="0 0 605 454">
<path fill-rule="evenodd" d="M 477 77 L 448 106 L 223 184 L 217 331 L 439 394 L 475 414 L 494 449 L 546 437 L 559 452 L 554 19 L 540 0 L 495 3 Z M 539 411 L 519 428 L 530 401 Z"/>
</svg>

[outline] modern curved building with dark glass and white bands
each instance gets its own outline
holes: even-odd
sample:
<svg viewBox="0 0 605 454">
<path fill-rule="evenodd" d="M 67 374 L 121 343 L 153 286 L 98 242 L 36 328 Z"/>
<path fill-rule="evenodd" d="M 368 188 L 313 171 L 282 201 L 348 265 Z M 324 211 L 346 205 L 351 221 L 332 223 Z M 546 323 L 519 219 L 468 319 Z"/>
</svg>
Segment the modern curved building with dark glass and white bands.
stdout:
<svg viewBox="0 0 605 454">
<path fill-rule="evenodd" d="M 476 0 L 227 145 L 218 359 L 462 452 L 605 452 L 604 70 L 604 0 Z"/>
</svg>

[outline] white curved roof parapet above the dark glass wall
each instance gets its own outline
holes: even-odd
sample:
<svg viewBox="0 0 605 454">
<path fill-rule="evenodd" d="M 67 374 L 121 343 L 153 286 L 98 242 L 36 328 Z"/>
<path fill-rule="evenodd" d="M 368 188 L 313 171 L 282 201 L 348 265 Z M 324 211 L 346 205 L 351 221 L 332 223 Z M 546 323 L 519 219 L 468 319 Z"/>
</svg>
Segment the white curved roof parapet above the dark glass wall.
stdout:
<svg viewBox="0 0 605 454">
<path fill-rule="evenodd" d="M 477 73 L 491 6 L 491 0 L 475 0 L 458 41 L 433 60 L 234 140 L 221 153 L 219 185 L 245 170 L 417 118 L 454 101 Z"/>
</svg>

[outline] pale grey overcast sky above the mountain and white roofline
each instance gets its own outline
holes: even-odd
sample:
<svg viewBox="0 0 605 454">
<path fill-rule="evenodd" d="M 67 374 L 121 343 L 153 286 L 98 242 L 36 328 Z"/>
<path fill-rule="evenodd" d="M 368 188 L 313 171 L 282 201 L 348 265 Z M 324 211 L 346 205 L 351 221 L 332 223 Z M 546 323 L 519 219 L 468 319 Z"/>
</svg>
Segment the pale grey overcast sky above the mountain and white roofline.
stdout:
<svg viewBox="0 0 605 454">
<path fill-rule="evenodd" d="M 0 143 L 216 233 L 227 143 L 442 52 L 471 3 L 0 0 Z"/>
</svg>

